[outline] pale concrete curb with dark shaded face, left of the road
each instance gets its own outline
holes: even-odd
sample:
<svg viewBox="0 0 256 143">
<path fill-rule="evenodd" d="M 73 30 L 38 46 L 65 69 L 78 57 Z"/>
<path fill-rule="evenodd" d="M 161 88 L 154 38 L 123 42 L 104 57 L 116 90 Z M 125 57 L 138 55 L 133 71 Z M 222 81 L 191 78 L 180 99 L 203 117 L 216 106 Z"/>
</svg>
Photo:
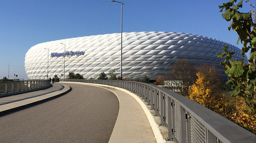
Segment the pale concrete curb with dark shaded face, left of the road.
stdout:
<svg viewBox="0 0 256 143">
<path fill-rule="evenodd" d="M 27 108 L 29 106 L 32 106 L 32 105 L 35 105 L 38 103 L 42 103 L 49 99 L 53 99 L 57 96 L 66 94 L 67 92 L 69 92 L 71 90 L 71 88 L 67 85 L 62 84 L 62 86 L 64 86 L 64 88 L 60 91 L 55 91 L 53 93 L 48 93 L 43 96 L 37 96 L 34 98 L 24 99 L 21 101 L 0 105 L 0 116 L 2 116 L 3 114 L 6 114 L 6 113 L 10 113 L 12 111 L 16 111 L 18 109 Z"/>
</svg>

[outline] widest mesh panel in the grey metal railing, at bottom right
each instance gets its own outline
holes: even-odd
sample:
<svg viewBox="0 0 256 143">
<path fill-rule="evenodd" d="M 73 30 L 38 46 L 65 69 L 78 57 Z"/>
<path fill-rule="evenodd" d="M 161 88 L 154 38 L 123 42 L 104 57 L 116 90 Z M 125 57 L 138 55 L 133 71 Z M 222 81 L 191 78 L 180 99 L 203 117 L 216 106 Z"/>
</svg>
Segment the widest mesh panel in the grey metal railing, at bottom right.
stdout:
<svg viewBox="0 0 256 143">
<path fill-rule="evenodd" d="M 206 143 L 205 127 L 194 116 L 191 117 L 191 143 Z"/>
</svg>

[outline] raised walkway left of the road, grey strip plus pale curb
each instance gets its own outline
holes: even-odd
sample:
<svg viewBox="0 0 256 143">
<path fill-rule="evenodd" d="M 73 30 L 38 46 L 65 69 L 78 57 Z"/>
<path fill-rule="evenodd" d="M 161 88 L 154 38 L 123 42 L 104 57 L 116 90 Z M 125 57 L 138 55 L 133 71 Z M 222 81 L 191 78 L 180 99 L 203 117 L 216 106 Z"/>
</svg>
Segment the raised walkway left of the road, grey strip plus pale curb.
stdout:
<svg viewBox="0 0 256 143">
<path fill-rule="evenodd" d="M 0 98 L 0 103 L 2 103 L 0 104 L 0 116 L 21 108 L 38 104 L 40 102 L 54 98 L 55 96 L 60 96 L 70 90 L 70 87 L 67 85 L 57 85 L 58 86 L 53 86 L 40 91 L 32 91 L 29 93 Z"/>
</svg>

